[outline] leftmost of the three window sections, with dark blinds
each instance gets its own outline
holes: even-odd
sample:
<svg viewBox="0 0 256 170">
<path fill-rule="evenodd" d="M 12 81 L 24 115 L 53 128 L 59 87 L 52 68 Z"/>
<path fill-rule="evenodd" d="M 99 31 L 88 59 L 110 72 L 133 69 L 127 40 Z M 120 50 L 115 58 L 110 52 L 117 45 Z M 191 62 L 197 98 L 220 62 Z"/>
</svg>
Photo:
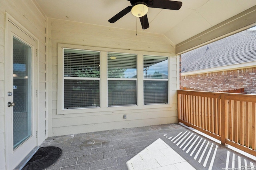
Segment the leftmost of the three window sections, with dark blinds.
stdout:
<svg viewBox="0 0 256 170">
<path fill-rule="evenodd" d="M 100 52 L 64 49 L 64 109 L 100 107 Z"/>
</svg>

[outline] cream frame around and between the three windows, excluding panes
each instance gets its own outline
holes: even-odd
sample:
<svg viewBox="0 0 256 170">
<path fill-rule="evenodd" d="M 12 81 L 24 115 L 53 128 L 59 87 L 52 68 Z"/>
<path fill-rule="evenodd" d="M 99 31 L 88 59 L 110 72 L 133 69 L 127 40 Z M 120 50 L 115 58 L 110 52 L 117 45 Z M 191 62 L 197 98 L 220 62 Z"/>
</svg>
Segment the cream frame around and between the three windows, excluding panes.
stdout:
<svg viewBox="0 0 256 170">
<path fill-rule="evenodd" d="M 87 51 L 100 51 L 100 107 L 90 107 L 90 108 L 79 108 L 79 109 L 63 109 L 63 69 L 64 63 L 62 60 L 63 48 L 67 49 L 78 49 L 78 50 L 87 50 Z M 135 54 L 137 55 L 137 80 L 136 80 L 136 99 L 137 105 L 128 105 L 128 106 L 111 106 L 108 107 L 108 75 L 107 75 L 107 54 L 108 53 L 125 53 L 125 54 Z M 153 55 L 153 56 L 164 56 L 168 57 L 168 104 L 148 104 L 144 105 L 144 92 L 143 92 L 143 55 Z M 172 64 L 177 66 L 177 58 L 174 53 L 161 53 L 161 52 L 150 52 L 150 51 L 136 51 L 136 50 L 126 50 L 126 49 L 112 49 L 105 47 L 91 47 L 84 45 L 72 45 L 72 44 L 63 44 L 58 43 L 56 52 L 53 51 L 52 58 L 56 58 L 52 65 L 52 72 L 49 74 L 52 78 L 52 91 L 56 94 L 57 98 L 52 99 L 52 113 L 57 115 L 65 114 L 84 114 L 86 116 L 102 115 L 102 113 L 108 115 L 115 113 L 115 111 L 135 111 L 138 109 L 162 109 L 174 107 L 176 103 L 176 98 L 174 93 L 177 90 L 177 73 L 176 68 L 170 68 Z M 57 64 L 58 63 L 58 64 Z M 174 75 L 175 74 L 175 75 Z M 170 82 L 170 78 L 174 76 L 173 82 Z M 109 78 L 111 79 L 111 78 Z M 127 78 L 125 79 L 127 80 Z M 50 92 L 50 93 L 51 93 Z M 54 97 L 55 95 L 53 95 Z"/>
</svg>

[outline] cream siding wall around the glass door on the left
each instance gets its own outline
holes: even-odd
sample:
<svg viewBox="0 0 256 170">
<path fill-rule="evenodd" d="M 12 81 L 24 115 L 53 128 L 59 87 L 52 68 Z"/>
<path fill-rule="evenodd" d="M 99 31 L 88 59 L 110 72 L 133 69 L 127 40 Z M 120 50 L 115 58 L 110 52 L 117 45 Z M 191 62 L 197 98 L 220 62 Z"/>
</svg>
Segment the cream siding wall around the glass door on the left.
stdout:
<svg viewBox="0 0 256 170">
<path fill-rule="evenodd" d="M 42 82 L 37 82 L 39 84 L 39 91 L 46 93 L 46 57 L 45 57 L 45 17 L 40 13 L 38 8 L 36 8 L 33 0 L 1 0 L 0 2 L 0 86 L 4 87 L 4 68 L 8 67 L 4 64 L 4 48 L 5 48 L 5 12 L 8 12 L 15 20 L 17 20 L 23 27 L 30 31 L 37 39 L 39 39 L 39 68 L 40 72 L 44 73 L 44 77 L 40 78 Z M 39 80 L 39 78 L 38 78 Z M 39 94 L 40 95 L 40 94 Z M 5 107 L 7 107 L 5 102 L 6 92 L 4 88 L 0 88 L 0 170 L 6 169 L 6 150 L 5 150 Z M 46 95 L 40 97 L 39 103 L 46 102 Z M 45 122 L 45 111 L 46 105 L 38 107 L 38 110 L 44 110 L 44 115 L 38 119 L 43 119 Z M 45 137 L 45 125 L 38 128 L 39 140 L 38 145 L 44 141 Z"/>
</svg>

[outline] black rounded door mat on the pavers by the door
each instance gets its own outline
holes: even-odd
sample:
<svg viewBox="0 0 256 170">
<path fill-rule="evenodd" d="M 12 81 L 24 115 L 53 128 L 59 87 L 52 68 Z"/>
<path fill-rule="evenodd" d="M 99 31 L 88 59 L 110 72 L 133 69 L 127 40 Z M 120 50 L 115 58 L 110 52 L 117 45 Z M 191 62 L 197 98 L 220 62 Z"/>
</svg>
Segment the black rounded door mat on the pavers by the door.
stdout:
<svg viewBox="0 0 256 170">
<path fill-rule="evenodd" d="M 22 170 L 43 170 L 56 162 L 61 154 L 62 150 L 58 147 L 41 147 Z"/>
</svg>

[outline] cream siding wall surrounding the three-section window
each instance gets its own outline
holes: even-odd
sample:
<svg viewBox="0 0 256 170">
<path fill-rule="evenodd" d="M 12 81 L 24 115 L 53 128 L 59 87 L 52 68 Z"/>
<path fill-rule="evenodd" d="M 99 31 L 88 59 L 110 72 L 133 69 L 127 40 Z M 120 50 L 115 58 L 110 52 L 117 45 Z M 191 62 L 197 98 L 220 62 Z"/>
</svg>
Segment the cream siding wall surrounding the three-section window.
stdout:
<svg viewBox="0 0 256 170">
<path fill-rule="evenodd" d="M 90 25 L 84 23 L 76 23 L 64 20 L 49 19 L 48 20 L 48 39 L 51 39 L 49 46 L 49 94 L 48 101 L 51 114 L 49 114 L 49 136 L 68 135 L 74 133 L 85 133 L 90 131 L 102 131 L 107 129 L 120 129 L 129 127 L 141 127 L 147 125 L 158 125 L 177 122 L 177 59 L 175 49 L 171 42 L 163 35 L 139 32 L 125 29 L 115 29 L 110 27 L 101 27 L 98 25 Z M 138 106 L 131 107 L 103 107 L 97 111 L 88 109 L 88 111 L 76 111 L 72 114 L 57 114 L 57 93 L 58 93 L 58 43 L 80 45 L 93 47 L 94 49 L 102 49 L 114 52 L 136 53 L 138 57 L 142 54 L 167 55 L 170 56 L 170 105 L 161 106 L 143 106 L 142 96 L 143 88 L 138 87 Z M 140 60 L 140 61 L 139 61 Z M 138 59 L 138 62 L 142 62 Z M 106 64 L 106 63 L 105 63 Z M 139 66 L 141 69 L 141 65 Z M 101 68 L 106 66 L 101 64 Z M 139 69 L 139 68 L 138 68 Z M 143 68 L 142 68 L 143 69 Z M 141 76 L 143 74 L 138 73 Z M 104 74 L 105 75 L 105 74 Z M 101 77 L 102 81 L 106 81 L 106 77 Z M 142 79 L 138 81 L 143 82 Z M 106 86 L 102 86 L 105 89 Z M 139 91 L 140 90 L 140 91 Z M 105 91 L 105 90 L 104 90 Z M 103 94 L 103 93 L 102 93 Z M 140 95 L 140 96 L 139 96 Z M 107 99 L 106 93 L 101 96 Z M 102 102 L 104 102 L 102 100 Z M 123 115 L 127 115 L 127 119 L 123 119 Z"/>
</svg>

